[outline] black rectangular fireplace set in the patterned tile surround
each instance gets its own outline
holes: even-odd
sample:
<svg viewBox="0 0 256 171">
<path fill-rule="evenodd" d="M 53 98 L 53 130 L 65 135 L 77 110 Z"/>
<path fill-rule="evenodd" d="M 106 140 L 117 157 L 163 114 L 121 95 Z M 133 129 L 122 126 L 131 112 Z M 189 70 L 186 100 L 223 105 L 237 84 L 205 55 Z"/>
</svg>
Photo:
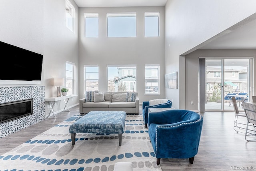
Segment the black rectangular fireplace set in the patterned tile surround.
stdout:
<svg viewBox="0 0 256 171">
<path fill-rule="evenodd" d="M 33 114 L 33 99 L 0 103 L 0 124 Z"/>
</svg>

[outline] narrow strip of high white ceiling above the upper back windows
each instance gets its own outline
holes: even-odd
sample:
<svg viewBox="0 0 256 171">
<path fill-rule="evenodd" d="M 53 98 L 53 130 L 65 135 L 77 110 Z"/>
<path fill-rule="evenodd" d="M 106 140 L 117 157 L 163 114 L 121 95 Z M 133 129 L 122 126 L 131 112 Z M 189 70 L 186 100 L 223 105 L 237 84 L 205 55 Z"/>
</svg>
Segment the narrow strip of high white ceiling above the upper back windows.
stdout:
<svg viewBox="0 0 256 171">
<path fill-rule="evenodd" d="M 78 7 L 165 6 L 167 0 L 74 0 Z"/>
</svg>

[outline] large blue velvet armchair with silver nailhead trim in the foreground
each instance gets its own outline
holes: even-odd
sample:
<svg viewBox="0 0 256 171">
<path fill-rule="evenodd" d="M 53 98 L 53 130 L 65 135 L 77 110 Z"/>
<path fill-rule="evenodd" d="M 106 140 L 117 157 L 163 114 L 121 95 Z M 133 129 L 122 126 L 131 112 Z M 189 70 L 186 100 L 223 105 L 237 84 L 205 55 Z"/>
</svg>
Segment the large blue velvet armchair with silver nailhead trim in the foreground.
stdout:
<svg viewBox="0 0 256 171">
<path fill-rule="evenodd" d="M 171 109 L 148 115 L 148 134 L 157 165 L 161 158 L 189 158 L 198 152 L 203 117 L 189 110 Z"/>
</svg>

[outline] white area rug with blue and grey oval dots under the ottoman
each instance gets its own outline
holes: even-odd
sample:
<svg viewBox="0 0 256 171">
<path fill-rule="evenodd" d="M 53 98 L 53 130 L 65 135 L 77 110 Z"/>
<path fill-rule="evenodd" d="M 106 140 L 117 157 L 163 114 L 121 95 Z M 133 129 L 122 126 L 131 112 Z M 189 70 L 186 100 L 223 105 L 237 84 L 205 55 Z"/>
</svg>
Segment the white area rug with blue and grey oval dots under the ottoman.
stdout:
<svg viewBox="0 0 256 171">
<path fill-rule="evenodd" d="M 133 171 L 162 171 L 142 115 L 126 115 L 122 145 L 118 134 L 77 133 L 72 145 L 69 125 L 74 115 L 0 156 L 0 171 L 113 171 L 117 162 L 131 162 Z"/>
</svg>

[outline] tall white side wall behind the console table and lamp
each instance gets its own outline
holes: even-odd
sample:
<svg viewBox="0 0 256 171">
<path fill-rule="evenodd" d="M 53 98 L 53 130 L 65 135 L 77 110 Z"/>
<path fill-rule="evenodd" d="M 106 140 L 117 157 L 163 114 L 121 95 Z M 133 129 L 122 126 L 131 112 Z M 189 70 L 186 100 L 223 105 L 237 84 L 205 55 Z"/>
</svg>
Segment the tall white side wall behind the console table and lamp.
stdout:
<svg viewBox="0 0 256 171">
<path fill-rule="evenodd" d="M 44 85 L 45 97 L 57 95 L 57 87 L 52 86 L 52 78 L 65 78 L 66 61 L 76 65 L 76 81 L 78 79 L 78 7 L 70 0 L 75 8 L 74 32 L 71 32 L 65 24 L 66 10 L 65 0 L 44 0 Z M 63 86 L 64 87 L 64 86 Z M 75 84 L 78 94 L 78 84 Z M 78 103 L 79 97 L 73 97 L 68 105 Z M 64 108 L 64 101 L 58 101 L 54 111 Z M 49 108 L 46 105 L 46 115 Z"/>
</svg>

